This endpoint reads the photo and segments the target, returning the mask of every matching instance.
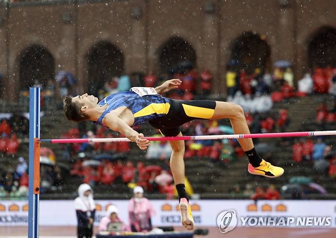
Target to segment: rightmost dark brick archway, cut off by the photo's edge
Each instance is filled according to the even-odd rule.
[[[335,28],[323,26],[308,37],[307,63],[310,69],[326,66],[336,67]]]

